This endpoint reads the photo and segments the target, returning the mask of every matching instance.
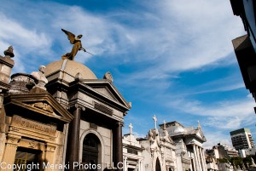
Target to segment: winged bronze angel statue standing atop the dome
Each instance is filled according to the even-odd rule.
[[[65,32],[68,40],[70,41],[70,43],[73,44],[73,48],[72,48],[71,52],[61,56],[62,60],[66,60],[66,59],[74,60],[74,57],[78,53],[79,50],[83,50],[84,52],[87,52],[85,50],[85,48],[82,47],[82,43],[80,40],[80,38],[83,37],[83,35],[80,34],[78,37],[76,37],[72,32],[66,31],[64,29],[61,29],[61,31]],[[87,52],[87,53],[90,54],[89,52]]]

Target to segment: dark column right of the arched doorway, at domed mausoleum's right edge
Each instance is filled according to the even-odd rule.
[[[119,167],[119,171],[123,170],[122,126],[123,123],[118,122],[113,128],[113,167]]]

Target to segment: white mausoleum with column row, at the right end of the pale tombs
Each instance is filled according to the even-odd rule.
[[[160,128],[163,128],[163,124]],[[207,171],[205,152],[202,144],[206,138],[198,122],[197,128],[185,128],[176,121],[166,123],[166,130],[176,143],[177,170]]]

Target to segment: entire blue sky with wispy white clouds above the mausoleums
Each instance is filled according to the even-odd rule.
[[[254,101],[244,88],[231,40],[245,34],[229,0],[0,0],[0,53],[15,48],[13,72],[37,71],[72,48],[61,28],[83,34],[79,52],[98,78],[132,102],[125,117],[137,136],[176,120],[197,126],[205,147],[230,145],[230,130],[255,131]],[[3,55],[3,54],[2,54]]]

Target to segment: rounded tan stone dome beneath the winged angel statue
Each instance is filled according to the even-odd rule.
[[[97,79],[96,75],[82,63],[74,60],[57,60],[46,66],[44,75],[48,81],[61,78],[67,83],[73,82],[79,73],[80,79]]]

